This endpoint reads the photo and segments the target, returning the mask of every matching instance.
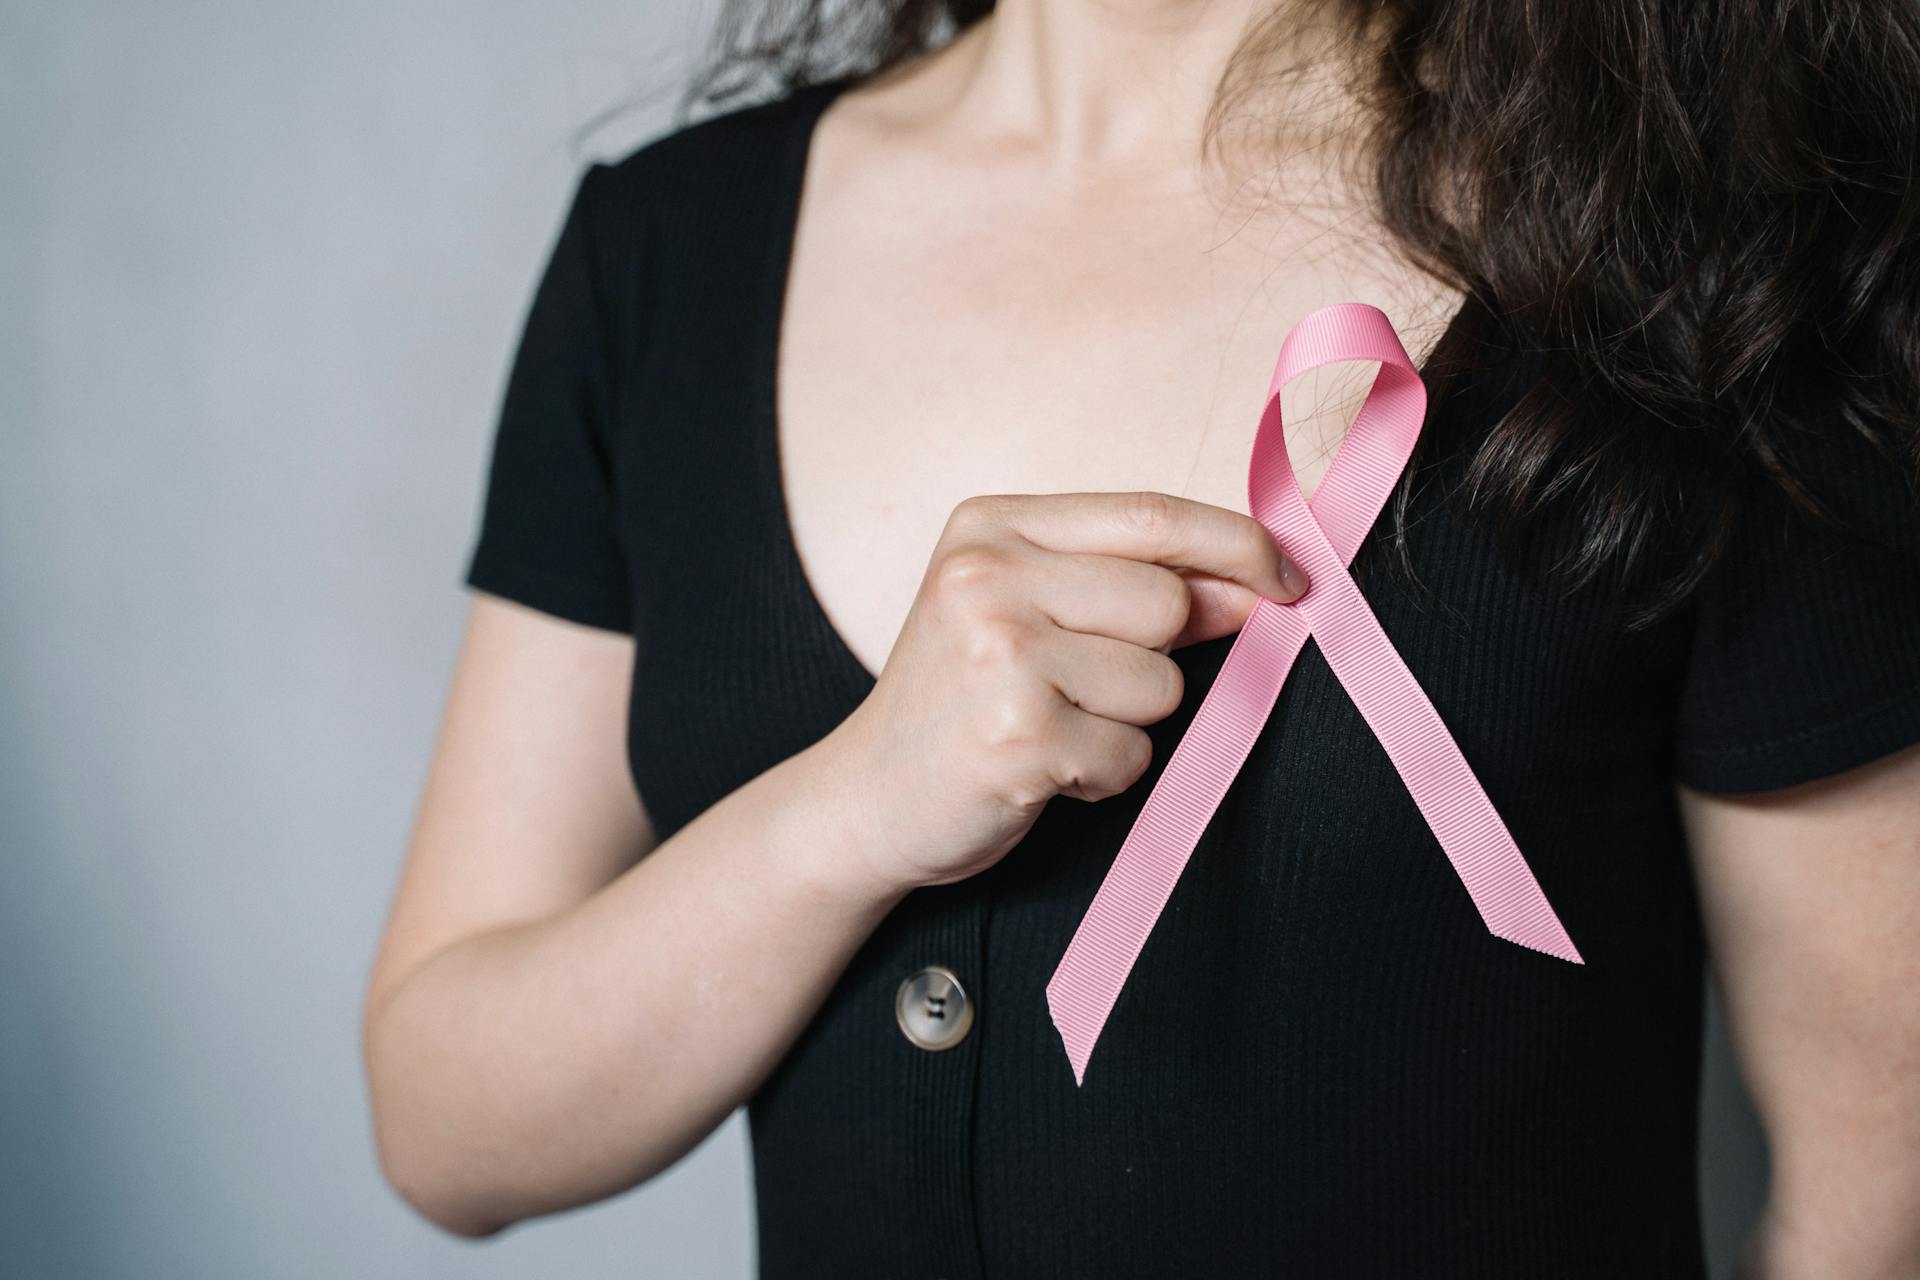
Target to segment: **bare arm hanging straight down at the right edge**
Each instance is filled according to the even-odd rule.
[[[1920,1276],[1920,748],[1680,789],[1715,981],[1772,1151],[1740,1280]]]

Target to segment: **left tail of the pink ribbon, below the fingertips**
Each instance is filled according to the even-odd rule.
[[[1306,637],[1292,610],[1271,601],[1254,606],[1046,981],[1046,1007],[1073,1065],[1073,1084],[1085,1082],[1087,1059],[1133,961],[1246,764]]]

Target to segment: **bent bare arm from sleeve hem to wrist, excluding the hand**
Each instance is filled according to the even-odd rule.
[[[835,877],[864,860],[808,752],[655,846],[630,666],[630,637],[474,599],[363,1023],[386,1176],[463,1236],[697,1146],[904,892]]]

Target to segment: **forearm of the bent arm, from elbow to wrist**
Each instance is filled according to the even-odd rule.
[[[849,781],[801,752],[576,908],[409,975],[367,1029],[396,1188],[488,1234],[636,1186],[712,1132],[904,894],[858,871]]]

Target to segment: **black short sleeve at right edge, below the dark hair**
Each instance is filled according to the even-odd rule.
[[[1693,604],[1674,773],[1770,791],[1920,743],[1920,493],[1895,459],[1811,403],[1789,466],[1843,533],[1755,476]]]

